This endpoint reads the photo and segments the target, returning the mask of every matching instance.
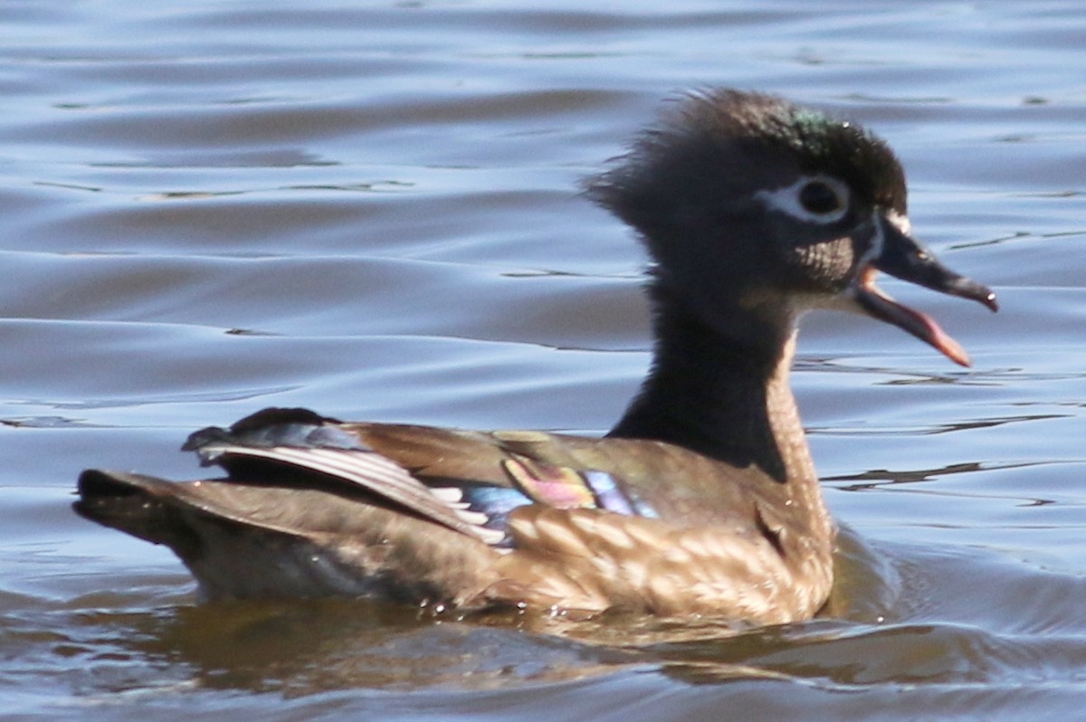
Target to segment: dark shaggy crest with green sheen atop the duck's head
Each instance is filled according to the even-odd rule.
[[[797,175],[839,178],[870,205],[906,214],[905,173],[861,126],[758,92],[708,90],[679,99],[589,195],[646,236],[667,216],[714,213],[716,202]],[[719,214],[719,211],[717,212]]]

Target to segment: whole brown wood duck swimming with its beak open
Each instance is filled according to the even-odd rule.
[[[268,408],[185,444],[225,478],[87,470],[76,511],[171,547],[204,598],[812,617],[835,527],[788,388],[799,317],[863,313],[968,365],[874,277],[995,295],[911,237],[882,140],[771,96],[685,97],[586,188],[653,261],[652,368],[605,438]]]

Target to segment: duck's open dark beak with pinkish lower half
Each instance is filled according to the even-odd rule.
[[[881,249],[859,269],[850,292],[856,303],[870,316],[893,324],[921,341],[934,346],[950,360],[969,366],[969,355],[961,345],[939,328],[930,316],[894,301],[875,286],[875,275],[882,270],[902,281],[924,286],[934,291],[972,299],[992,311],[999,308],[996,294],[986,286],[959,276],[929,253],[909,236],[906,221],[879,214],[875,217]]]

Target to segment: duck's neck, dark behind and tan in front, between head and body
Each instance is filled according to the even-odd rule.
[[[657,345],[648,378],[608,435],[655,439],[779,482],[817,481],[788,371],[795,325],[740,314],[721,328],[652,289]],[[731,331],[731,332],[730,332]]]

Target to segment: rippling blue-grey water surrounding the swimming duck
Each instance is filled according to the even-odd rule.
[[[1078,3],[11,0],[0,23],[7,719],[1082,718]],[[643,256],[577,185],[707,85],[875,128],[918,235],[1003,306],[885,283],[969,370],[807,324],[832,618],[555,637],[200,607],[167,552],[70,511],[80,468],[193,476],[190,430],[269,404],[606,429],[647,359]]]

